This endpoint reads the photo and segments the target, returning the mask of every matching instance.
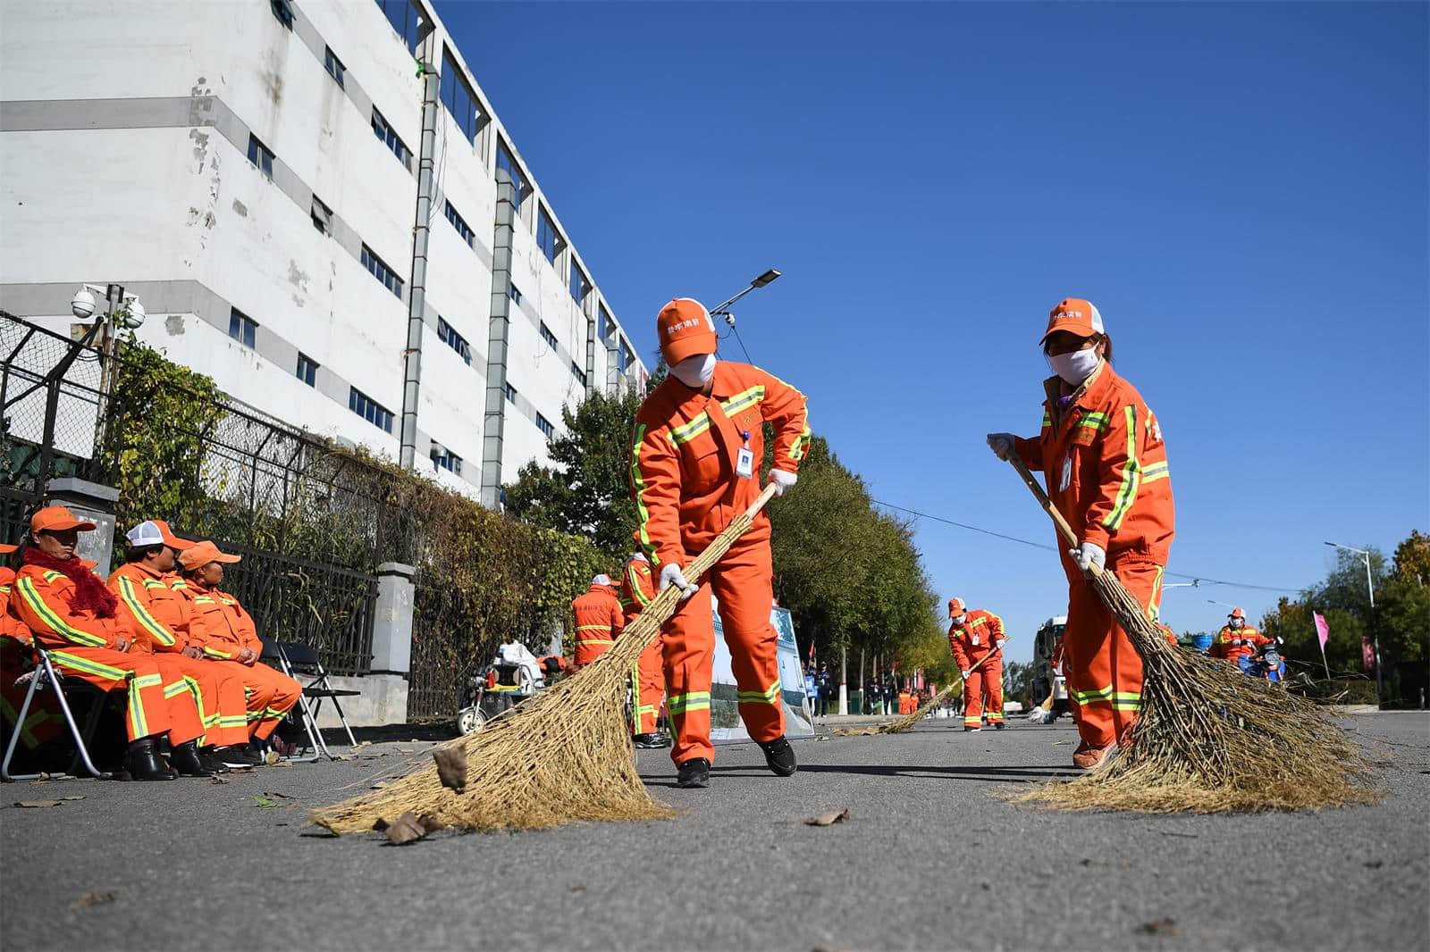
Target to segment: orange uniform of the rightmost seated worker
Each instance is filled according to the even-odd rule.
[[[199,622],[193,628],[203,632],[203,656],[209,659],[207,663],[230,673],[243,685],[246,735],[267,740],[297,703],[303,686],[283,672],[257,662],[263,653],[263,642],[253,616],[243,610],[236,598],[190,579],[176,577],[172,585]],[[237,660],[245,649],[253,652],[255,660]]]

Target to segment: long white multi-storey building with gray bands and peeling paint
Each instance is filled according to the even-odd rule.
[[[442,104],[419,470],[478,496],[485,462],[490,502],[493,473],[511,482],[546,460],[565,403],[644,383],[430,0],[0,10],[0,309],[69,330],[80,283],[120,283],[149,313],[140,336],[173,360],[279,419],[396,459],[423,60],[440,73]],[[519,189],[505,237],[499,167]],[[499,330],[505,349],[489,346]],[[500,440],[483,460],[488,382],[503,377]]]

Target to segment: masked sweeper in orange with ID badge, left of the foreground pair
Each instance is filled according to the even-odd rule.
[[[795,485],[809,445],[805,396],[778,377],[744,363],[716,360],[715,323],[705,307],[676,297],[656,317],[661,354],[671,375],[636,412],[631,439],[631,497],[639,520],[635,539],[659,566],[658,587],[684,593],[665,629],[666,712],[675,729],[671,758],[678,786],[708,786],[711,683],[719,599],[739,716],[778,776],[795,772],[785,739],[779,696],[778,635],[769,623],[774,566],[769,517],[754,526],[711,569],[696,589],[684,573],[731,520],[761,493],[764,425],[775,430],[769,482],[776,493]]]

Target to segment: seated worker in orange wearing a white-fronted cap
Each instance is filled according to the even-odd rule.
[[[109,590],[119,598],[119,616],[134,635],[132,650],[156,655],[162,669],[177,670],[189,690],[196,692],[204,726],[199,740],[204,746],[197,759],[210,772],[222,773],[230,766],[255,766],[257,760],[239,756],[249,742],[243,682],[204,660],[203,629],[173,589],[179,580],[174,556],[192,545],[163,520],[139,523],[124,533],[124,565],[110,573]]]

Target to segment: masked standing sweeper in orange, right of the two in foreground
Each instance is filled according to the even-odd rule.
[[[1075,547],[1058,550],[1068,579],[1068,689],[1080,709],[1072,763],[1093,769],[1137,720],[1143,662],[1088,572],[1094,565],[1114,572],[1157,620],[1174,535],[1171,480],[1157,415],[1113,370],[1097,307],[1060,302],[1040,344],[1054,370],[1044,382],[1042,430],[1030,439],[990,433],[988,446],[1000,459],[1017,453],[1042,470],[1048,496],[1078,536]]]

